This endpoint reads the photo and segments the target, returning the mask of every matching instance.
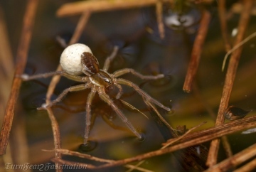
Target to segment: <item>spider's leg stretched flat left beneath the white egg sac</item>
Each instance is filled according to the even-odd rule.
[[[51,77],[53,75],[62,75],[63,77],[67,77],[70,80],[74,80],[74,81],[78,81],[78,82],[85,82],[84,77],[80,77],[77,75],[70,75],[67,72],[64,71],[55,71],[55,72],[47,72],[47,73],[42,73],[42,74],[38,74],[38,75],[27,75],[27,74],[23,74],[19,77],[21,77],[22,80],[34,80],[34,79],[38,79],[38,78],[46,78],[46,77]]]

